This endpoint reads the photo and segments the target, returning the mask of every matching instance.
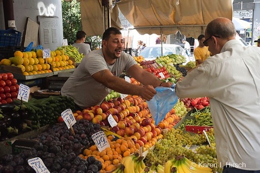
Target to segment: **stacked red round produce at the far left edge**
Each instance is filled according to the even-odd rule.
[[[17,99],[19,84],[12,73],[0,73],[0,104]]]

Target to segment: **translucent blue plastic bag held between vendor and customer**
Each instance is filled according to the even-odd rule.
[[[159,86],[155,88],[157,94],[152,100],[147,101],[148,108],[155,120],[155,125],[161,122],[165,115],[175,106],[178,101],[174,85],[172,88]]]

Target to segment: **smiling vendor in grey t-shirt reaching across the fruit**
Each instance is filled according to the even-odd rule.
[[[101,49],[88,53],[61,89],[62,96],[71,97],[82,109],[99,105],[112,91],[141,96],[151,100],[157,86],[171,87],[154,74],[142,69],[125,52],[122,33],[115,27],[105,30]],[[135,85],[120,78],[126,71],[143,85]]]

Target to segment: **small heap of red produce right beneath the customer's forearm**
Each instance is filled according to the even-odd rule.
[[[203,109],[206,106],[209,106],[209,98],[208,97],[201,97],[201,98],[185,98],[181,99],[184,103],[185,107],[187,108],[196,108],[198,110]]]

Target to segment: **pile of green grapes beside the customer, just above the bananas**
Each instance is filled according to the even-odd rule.
[[[172,169],[173,167],[178,166],[179,170],[182,170],[182,164],[186,164],[195,167],[198,164],[202,165],[212,165],[210,167],[212,170],[208,169],[211,172],[222,172],[222,168],[219,167],[216,158],[216,149],[215,149],[215,138],[213,128],[210,131],[206,132],[211,143],[211,146],[207,144],[207,140],[204,134],[191,134],[185,133],[180,128],[172,128],[163,139],[156,143],[154,150],[149,150],[147,156],[144,159],[145,164],[161,164],[165,167],[164,171],[168,171],[168,169]],[[196,145],[195,152],[190,149],[191,146]],[[189,159],[184,159],[184,157]],[[177,159],[176,159],[177,158]],[[178,161],[176,165],[174,160],[182,160]],[[171,160],[171,162],[168,162]],[[167,163],[168,162],[168,163]],[[192,164],[191,162],[195,162],[196,164]],[[167,165],[166,165],[167,163]],[[193,166],[194,165],[194,166]],[[183,165],[184,166],[184,165]],[[189,167],[190,167],[189,166]],[[203,166],[206,167],[206,166]],[[187,170],[186,167],[183,167],[184,170]],[[186,172],[186,171],[182,172]],[[176,170],[175,170],[176,171]],[[188,171],[188,170],[187,170]],[[170,171],[171,172],[171,171]],[[188,172],[204,172],[204,171],[196,171],[191,170]]]

